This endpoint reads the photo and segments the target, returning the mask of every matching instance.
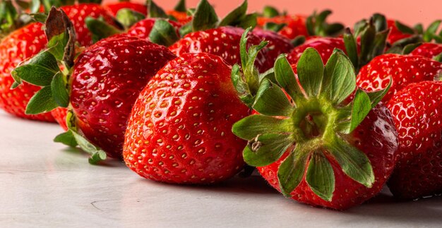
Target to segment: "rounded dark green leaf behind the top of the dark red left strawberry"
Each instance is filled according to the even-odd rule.
[[[167,20],[156,20],[149,34],[149,40],[155,44],[169,47],[179,40],[177,29]]]

